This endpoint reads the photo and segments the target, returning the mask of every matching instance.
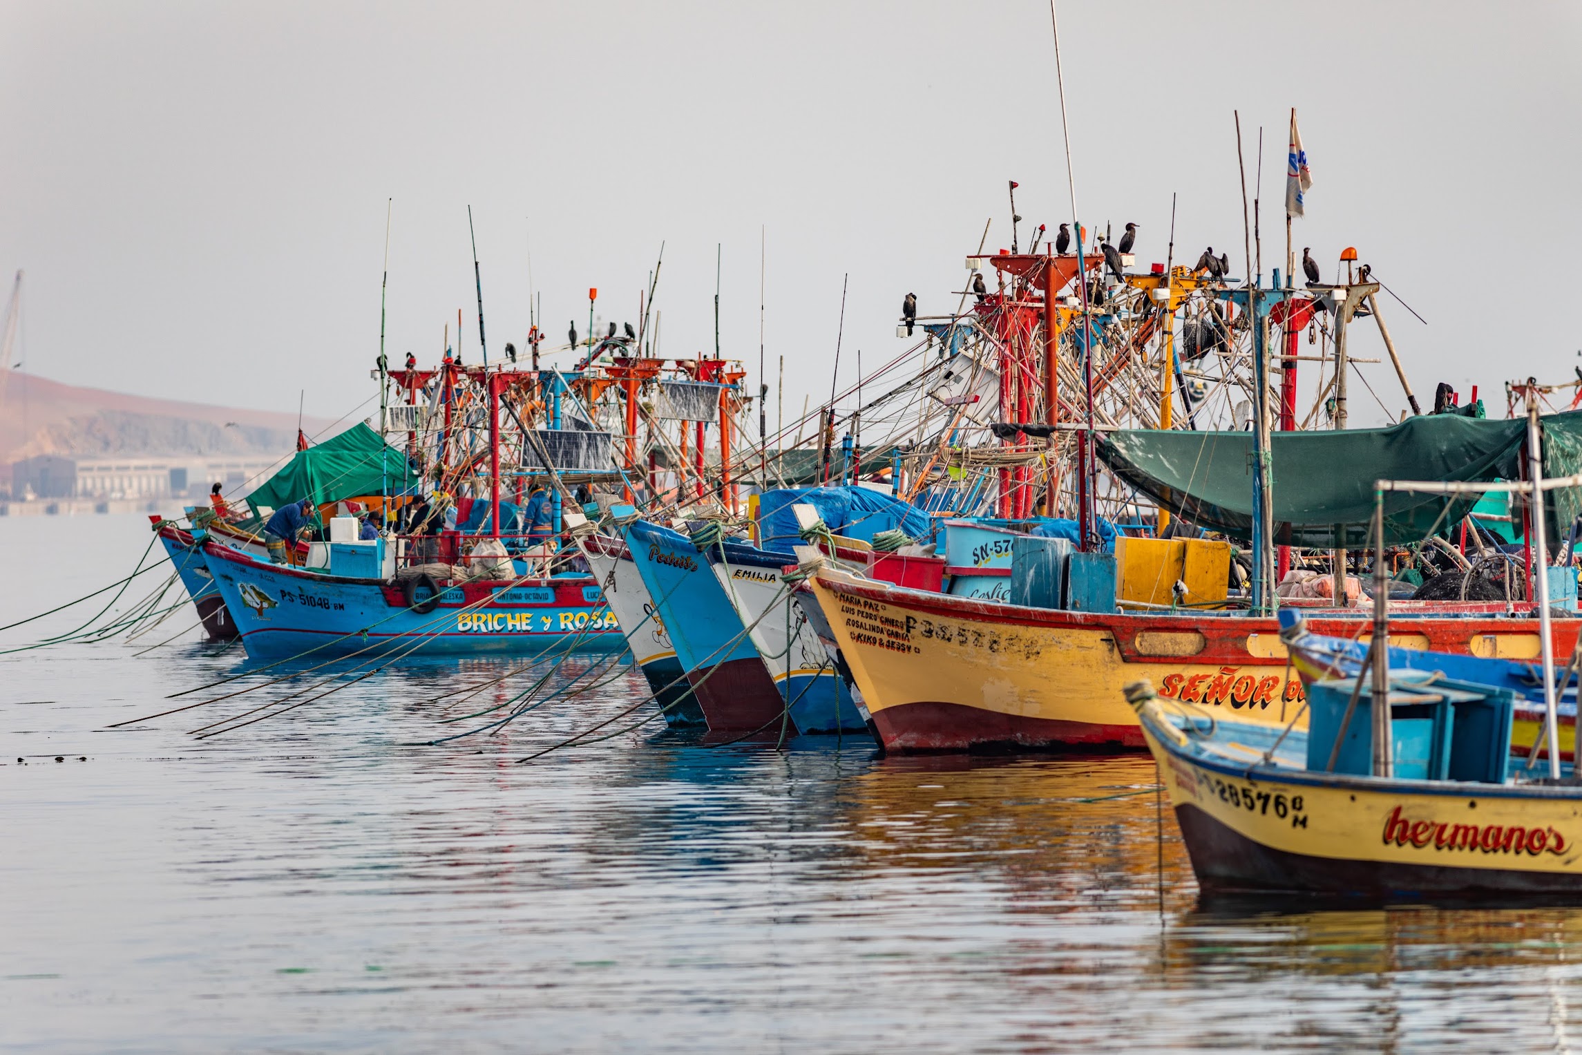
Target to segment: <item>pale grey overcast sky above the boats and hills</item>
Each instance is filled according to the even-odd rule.
[[[1313,163],[1296,245],[1345,245],[1419,395],[1574,378],[1576,3],[1096,3],[1058,8],[1077,207],[1163,261],[1242,274],[1232,111],[1264,130],[1266,267],[1283,253],[1286,120]],[[27,270],[24,369],[335,418],[388,348],[490,357],[544,326],[633,321],[664,242],[663,351],[758,361],[786,413],[903,350],[902,296],[954,308],[963,255],[1069,217],[1049,8],[990,3],[71,3],[0,0],[0,269]],[[1024,244],[1025,244],[1024,228]],[[1354,354],[1378,354],[1370,332]],[[1307,364],[1304,364],[1307,365]],[[1392,413],[1398,386],[1372,367]],[[774,395],[770,395],[774,399]],[[1503,413],[1503,397],[1490,400]],[[1498,410],[1493,403],[1498,403]],[[1383,413],[1365,392],[1354,424]],[[770,414],[770,421],[774,416]]]

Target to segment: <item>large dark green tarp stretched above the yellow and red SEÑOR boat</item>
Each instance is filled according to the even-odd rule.
[[[1582,413],[1555,414],[1542,424],[1544,475],[1582,471]],[[1410,418],[1391,429],[1277,432],[1270,444],[1275,541],[1361,549],[1373,520],[1375,481],[1517,479],[1525,437],[1525,419],[1459,414]],[[1098,457],[1171,512],[1231,538],[1250,538],[1250,432],[1114,432],[1099,444]],[[1550,492],[1546,503],[1550,539],[1560,535],[1554,527],[1557,519],[1565,530],[1582,511],[1582,495],[1576,490]],[[1422,541],[1436,522],[1440,530],[1457,524],[1476,500],[1476,495],[1386,493],[1386,539],[1392,546]]]

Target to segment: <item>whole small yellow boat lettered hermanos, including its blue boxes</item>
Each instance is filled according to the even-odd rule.
[[[1392,672],[1389,777],[1370,775],[1370,688],[1313,698],[1310,737],[1126,688],[1205,894],[1582,894],[1582,786],[1523,781],[1509,690]]]

